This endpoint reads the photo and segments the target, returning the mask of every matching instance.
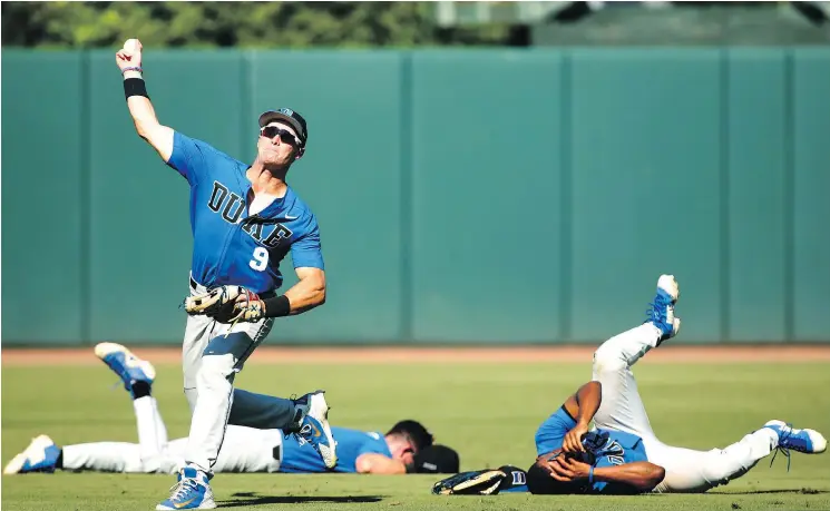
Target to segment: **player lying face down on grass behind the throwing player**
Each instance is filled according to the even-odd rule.
[[[53,472],[56,469],[125,473],[176,473],[185,463],[187,439],[167,440],[167,430],[152,395],[155,368],[126,347],[101,343],[95,348],[124,381],[133,397],[138,443],[95,442],[59,448],[47,435],[36,438],[4,473]],[[237,390],[236,392],[244,392]],[[232,412],[233,413],[233,412]],[[384,435],[332,428],[338,443],[334,472],[404,474],[458,472],[458,454],[434,445],[432,434],[416,421],[400,421]],[[307,442],[281,430],[230,425],[216,472],[330,472]]]

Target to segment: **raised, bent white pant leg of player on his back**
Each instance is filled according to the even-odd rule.
[[[645,323],[609,338],[594,353],[593,380],[603,385],[603,401],[594,415],[597,428],[654,436],[631,366],[657,345],[661,334]]]

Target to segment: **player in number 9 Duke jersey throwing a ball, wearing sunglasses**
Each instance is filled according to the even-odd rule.
[[[128,40],[116,53],[129,114],[138,135],[191,187],[193,262],[191,294],[228,305],[244,286],[256,317],[233,317],[227,307],[193,308],[184,336],[184,387],[192,410],[186,464],[169,499],[156,509],[213,509],[213,476],[228,423],[300,434],[326,468],[336,464],[335,444],[322,391],[283,400],[233,389],[234,376],[271,331],[274,317],[301,314],[325,301],[325,273],[318,220],[286,184],[292,163],[305,151],[305,119],[290,109],[260,117],[257,156],[243,164],[208,144],[162,125],[141,70],[141,45]],[[280,262],[291,253],[297,284],[284,294]],[[262,298],[262,302],[260,301]],[[192,305],[193,299],[188,305]]]

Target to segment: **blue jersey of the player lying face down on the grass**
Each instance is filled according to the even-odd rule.
[[[333,472],[357,472],[358,456],[365,453],[383,454],[392,458],[382,433],[332,428],[332,436],[338,443],[338,465]],[[283,442],[283,461],[280,472],[328,472],[323,460],[311,444],[293,439]]]

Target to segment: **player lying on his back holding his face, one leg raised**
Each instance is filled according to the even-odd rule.
[[[672,275],[657,281],[644,324],[606,341],[594,353],[593,380],[577,390],[536,432],[537,460],[525,474],[533,493],[705,492],[745,474],[781,450],[820,453],[827,440],[813,430],[770,421],[725,449],[693,451],[654,434],[632,366],[680,330],[680,296]],[[594,421],[594,429],[589,423]],[[439,481],[434,493],[496,493],[521,471],[476,471]],[[518,472],[517,472],[518,471]],[[514,472],[511,476],[509,472]]]

